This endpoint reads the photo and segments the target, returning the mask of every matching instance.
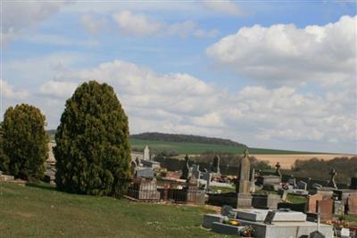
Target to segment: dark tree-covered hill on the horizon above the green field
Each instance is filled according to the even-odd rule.
[[[181,142],[181,143],[198,143],[198,144],[222,144],[230,145],[236,147],[247,146],[245,144],[240,144],[232,140],[222,139],[217,137],[207,137],[201,135],[182,135],[182,134],[166,134],[158,132],[146,132],[137,135],[130,135],[131,139],[140,140],[152,140],[152,141],[163,141],[163,142]]]

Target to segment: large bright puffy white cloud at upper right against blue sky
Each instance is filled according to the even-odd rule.
[[[343,16],[325,26],[293,24],[239,29],[206,53],[244,78],[268,84],[323,86],[350,84],[355,78],[357,17]]]

